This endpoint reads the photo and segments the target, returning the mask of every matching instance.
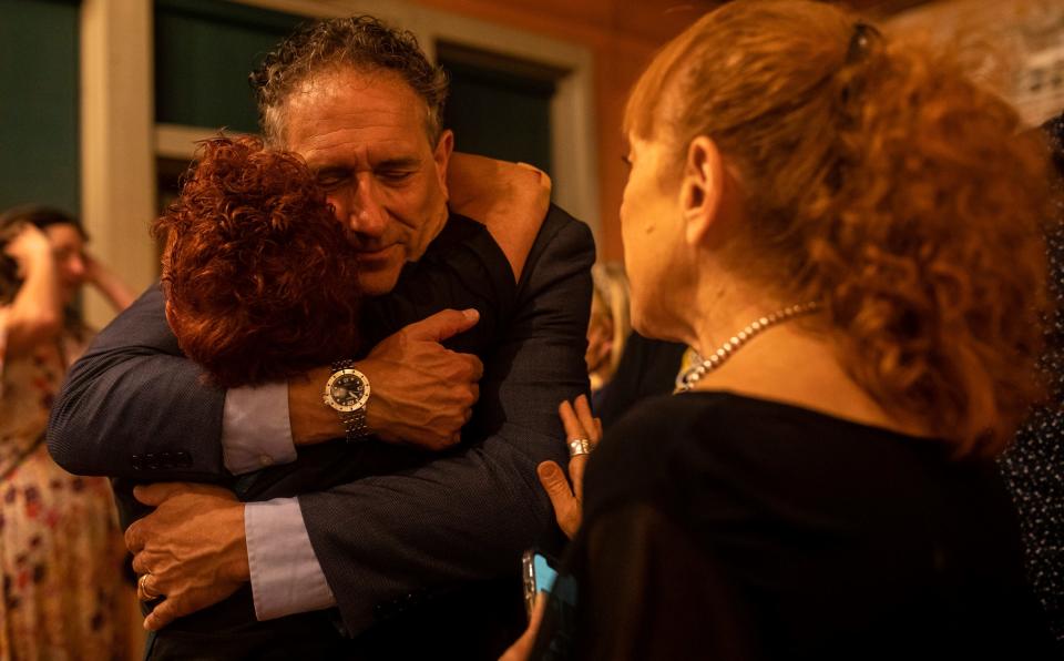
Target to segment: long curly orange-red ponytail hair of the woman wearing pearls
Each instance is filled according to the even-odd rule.
[[[861,39],[863,34],[864,39]],[[992,454],[1042,393],[1046,152],[948,55],[806,0],[737,0],[651,64],[625,131],[678,170],[698,135],[746,191],[725,258],[819,301],[852,378],[901,419]]]

